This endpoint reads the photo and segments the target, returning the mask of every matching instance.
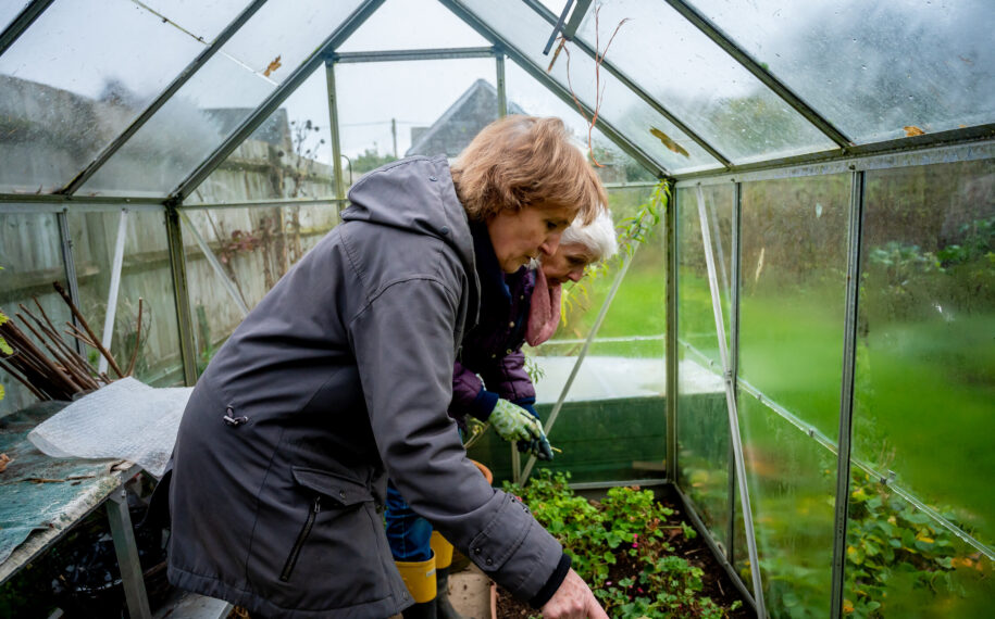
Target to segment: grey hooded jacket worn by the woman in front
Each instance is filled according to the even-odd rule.
[[[478,296],[446,160],[383,167],[349,199],[190,396],[173,455],[170,581],[264,616],[399,612],[411,601],[378,514],[389,475],[531,599],[562,571],[562,548],[487,484],[446,414]]]

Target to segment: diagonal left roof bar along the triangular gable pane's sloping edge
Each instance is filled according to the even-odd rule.
[[[279,108],[287,97],[322,64],[331,51],[343,45],[352,33],[359,28],[366,18],[376,11],[385,0],[366,0],[358,7],[351,15],[339,24],[325,41],[298,66],[287,79],[266,97],[248,118],[242,121],[235,131],[219,146],[214,152],[204,160],[190,175],[184,179],[170,194],[171,203],[181,203],[217,167],[241,142],[246,140],[270,115]]]

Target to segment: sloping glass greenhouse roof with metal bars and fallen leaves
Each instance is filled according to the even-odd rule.
[[[677,179],[995,135],[985,0],[431,4],[4,3],[0,195],[182,204],[315,71],[371,60],[507,55]],[[350,39],[405,10],[406,33]],[[71,146],[62,161],[26,162],[53,140]],[[156,174],[129,174],[135,162]]]

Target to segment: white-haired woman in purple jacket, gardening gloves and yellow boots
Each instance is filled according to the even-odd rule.
[[[530,426],[538,415],[535,387],[524,369],[522,344],[538,345],[556,332],[560,319],[560,289],[564,281],[579,281],[590,264],[618,252],[614,226],[607,209],[589,225],[575,220],[560,237],[551,255],[505,274],[486,251],[483,235],[475,237],[476,274],[481,281],[481,310],[476,326],[463,338],[452,371],[449,416],[462,429],[467,415],[489,422],[506,441],[515,441],[520,452],[552,459],[545,435],[534,438]],[[538,268],[535,268],[538,267]],[[435,580],[436,596],[405,611],[406,619],[459,615],[449,603],[449,557],[452,548],[432,525],[419,516],[393,484],[387,487],[387,540],[406,583],[412,589],[426,578]],[[435,573],[431,574],[434,561]]]

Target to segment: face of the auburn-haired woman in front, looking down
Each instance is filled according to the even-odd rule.
[[[531,258],[556,253],[560,235],[573,220],[573,209],[526,206],[519,212],[501,211],[487,220],[490,244],[505,273],[514,273]]]

